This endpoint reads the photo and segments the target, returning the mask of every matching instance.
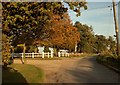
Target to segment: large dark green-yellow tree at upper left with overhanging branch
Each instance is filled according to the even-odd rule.
[[[86,6],[86,3],[83,5],[82,2],[66,3],[70,8],[79,10]],[[28,45],[34,40],[43,39],[47,35],[46,30],[52,14],[62,17],[67,12],[67,8],[61,2],[3,2],[2,5],[3,33],[10,37],[13,45]]]

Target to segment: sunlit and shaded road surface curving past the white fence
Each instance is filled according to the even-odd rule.
[[[28,60],[27,63],[44,70],[44,83],[120,83],[120,75],[97,63],[95,57]]]

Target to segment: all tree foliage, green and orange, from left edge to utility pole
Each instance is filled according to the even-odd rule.
[[[86,2],[67,2],[71,10],[80,16],[80,8],[87,9]],[[27,46],[26,52],[37,52],[36,47],[53,47],[55,52],[67,49],[73,52],[77,44],[80,53],[116,54],[116,42],[112,36],[95,35],[92,26],[71,23],[62,2],[4,2],[2,3],[3,62],[10,59],[10,47],[22,52],[18,44]],[[6,43],[7,42],[7,43]],[[8,63],[7,63],[8,64]],[[6,64],[6,65],[7,65]]]

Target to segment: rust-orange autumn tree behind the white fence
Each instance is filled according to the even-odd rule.
[[[54,48],[74,50],[75,44],[79,41],[79,32],[73,27],[67,13],[61,18],[54,15],[50,24],[49,41]]]

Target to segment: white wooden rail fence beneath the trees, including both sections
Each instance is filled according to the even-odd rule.
[[[12,53],[12,58],[17,58],[17,57],[22,57],[23,58],[23,53]],[[62,57],[62,56],[69,56],[69,53],[60,53],[58,52],[58,57]],[[42,54],[40,53],[25,53],[25,57],[26,58],[53,58],[53,53],[51,52],[42,52]]]

